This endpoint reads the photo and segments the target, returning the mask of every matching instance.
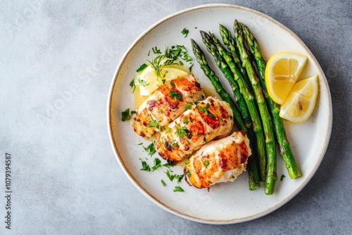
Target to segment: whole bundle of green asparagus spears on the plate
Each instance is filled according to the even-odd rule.
[[[237,127],[249,136],[254,153],[247,165],[249,189],[257,189],[260,186],[260,179],[265,182],[265,193],[270,195],[274,193],[277,181],[275,141],[279,144],[280,154],[291,179],[301,177],[301,172],[287,140],[282,118],[279,117],[279,104],[272,101],[268,95],[265,84],[266,62],[260,52],[258,41],[249,28],[237,20],[234,20],[233,30],[234,37],[226,27],[220,25],[220,36],[228,50],[211,32],[201,31],[201,37],[206,49],[229,82],[235,102],[208,65],[199,45],[193,39],[191,44],[201,69],[222,99],[229,102],[234,110]]]

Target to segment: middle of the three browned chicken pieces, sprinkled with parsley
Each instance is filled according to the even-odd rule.
[[[215,137],[229,134],[233,124],[229,103],[210,96],[171,122],[161,132],[156,149],[169,163],[177,163]]]

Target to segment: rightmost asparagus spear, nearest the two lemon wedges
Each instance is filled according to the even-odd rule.
[[[240,23],[240,25],[244,32],[244,38],[246,39],[246,43],[249,46],[249,50],[251,51],[254,57],[254,60],[256,61],[260,83],[262,84],[262,87],[263,87],[263,93],[264,93],[265,99],[268,103],[268,106],[270,107],[272,120],[275,126],[275,134],[277,137],[277,141],[279,143],[282,159],[284,160],[284,165],[287,168],[289,177],[291,177],[291,179],[296,179],[298,177],[301,177],[302,174],[298,169],[298,166],[296,165],[296,160],[294,159],[294,155],[292,154],[291,148],[289,146],[289,141],[287,140],[287,136],[284,130],[284,124],[282,122],[282,119],[279,117],[279,104],[272,101],[272,99],[268,94],[268,89],[265,84],[266,63],[261,54],[260,46],[256,38],[252,34],[252,32],[249,30],[249,28],[243,23]]]

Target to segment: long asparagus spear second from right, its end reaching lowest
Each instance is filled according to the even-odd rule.
[[[265,142],[267,149],[267,176],[265,178],[265,194],[274,193],[275,182],[277,180],[277,158],[276,158],[276,147],[275,147],[275,136],[272,131],[272,120],[266,106],[265,99],[263,96],[263,90],[260,87],[260,82],[254,72],[251,61],[249,60],[249,55],[244,46],[243,32],[238,21],[234,21],[234,37],[239,49],[239,54],[241,57],[242,64],[246,68],[247,74],[249,75],[249,80],[251,81],[254,95],[256,96],[256,101],[260,113],[261,120],[263,122],[263,129],[265,132]]]

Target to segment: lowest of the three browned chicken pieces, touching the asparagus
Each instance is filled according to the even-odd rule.
[[[220,182],[233,182],[246,170],[249,155],[251,148],[246,134],[234,132],[209,142],[192,155],[184,167],[184,177],[189,185],[199,189]]]

